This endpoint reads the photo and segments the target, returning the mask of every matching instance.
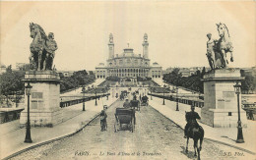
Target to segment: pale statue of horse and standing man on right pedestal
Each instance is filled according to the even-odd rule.
[[[213,40],[212,34],[207,34],[209,40],[207,41],[206,55],[212,70],[225,69],[228,67],[226,53],[230,53],[230,61],[233,62],[233,47],[230,40],[228,28],[222,23],[217,24],[217,27],[220,35],[219,40]]]

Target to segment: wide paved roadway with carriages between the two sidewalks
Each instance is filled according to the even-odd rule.
[[[99,118],[96,118],[81,133],[34,148],[13,159],[195,159],[192,140],[186,154],[183,131],[150,106],[136,112],[134,133],[114,133],[114,111],[122,103],[114,103],[107,110],[106,132],[100,132]],[[201,158],[243,158],[242,155],[236,156],[235,152],[241,153],[234,148],[205,140]]]

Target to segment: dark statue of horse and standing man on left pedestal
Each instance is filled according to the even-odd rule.
[[[57,43],[55,42],[52,32],[47,36],[42,27],[37,24],[30,24],[31,28],[31,56],[30,64],[31,70],[46,71],[52,70],[54,51],[57,50]]]

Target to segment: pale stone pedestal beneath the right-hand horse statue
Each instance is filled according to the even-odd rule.
[[[213,70],[204,76],[204,101],[201,122],[214,128],[235,128],[238,121],[237,94],[233,85],[241,81],[239,70]],[[247,127],[246,112],[241,109],[242,127]]]

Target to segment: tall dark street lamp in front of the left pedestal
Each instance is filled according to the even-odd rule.
[[[31,135],[31,120],[30,120],[30,95],[32,93],[32,85],[28,82],[28,85],[25,86],[26,94],[28,95],[28,122],[27,122],[27,130],[26,137],[24,142],[32,143],[32,135]]]

